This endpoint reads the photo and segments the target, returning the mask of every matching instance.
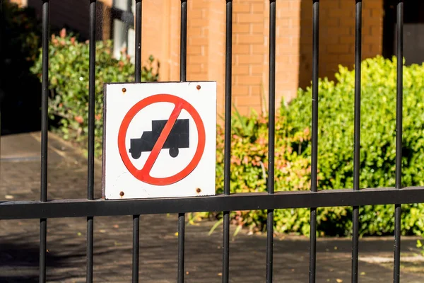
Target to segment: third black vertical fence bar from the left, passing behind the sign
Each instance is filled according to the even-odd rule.
[[[129,2],[131,4],[131,2]],[[130,5],[131,8],[131,5]],[[135,70],[134,81],[141,82],[141,0],[136,0],[136,31],[135,31]],[[139,282],[139,258],[140,258],[140,216],[133,215],[133,258],[132,258],[132,282]]]

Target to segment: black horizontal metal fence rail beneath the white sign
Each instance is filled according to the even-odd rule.
[[[0,202],[1,219],[36,219],[80,216],[114,216],[302,207],[348,207],[424,202],[424,187],[370,188],[355,191],[321,190],[240,193],[143,200],[53,200]]]

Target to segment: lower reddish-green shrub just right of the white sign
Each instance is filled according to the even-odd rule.
[[[236,112],[232,123],[231,139],[231,192],[266,192],[268,171],[268,123],[266,117],[252,115],[242,117]],[[285,118],[277,117],[275,190],[309,190],[310,161],[298,156],[292,143],[305,139],[307,133],[296,137],[286,137]],[[224,129],[218,125],[217,193],[223,192],[224,179]],[[192,221],[201,218],[220,219],[222,214],[191,214]],[[238,226],[247,226],[252,231],[263,231],[266,224],[266,211],[231,212],[231,222]],[[276,231],[309,233],[309,209],[280,209],[274,212]]]

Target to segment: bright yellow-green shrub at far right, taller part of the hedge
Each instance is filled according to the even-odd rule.
[[[362,64],[360,187],[393,187],[396,156],[396,59],[376,57]],[[319,189],[353,187],[353,119],[355,73],[340,67],[336,82],[319,81]],[[299,91],[281,115],[288,118],[290,134],[311,125],[311,88]],[[310,158],[310,139],[302,144],[301,156]],[[404,67],[404,133],[402,185],[424,185],[424,65]],[[321,212],[320,212],[321,211]],[[323,213],[324,211],[325,213]],[[338,217],[338,226],[348,234],[351,209],[338,208],[321,217]],[[343,215],[342,215],[343,214]],[[424,204],[403,206],[402,233],[424,231]],[[330,221],[329,223],[326,223]],[[336,224],[319,222],[321,230]],[[379,235],[394,231],[394,206],[360,207],[360,233]],[[328,232],[328,231],[327,231]]]

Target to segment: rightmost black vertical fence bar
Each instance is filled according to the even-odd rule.
[[[402,187],[402,114],[404,99],[404,1],[397,3],[397,75],[396,75],[396,189]],[[401,204],[394,206],[394,282],[401,271]]]

